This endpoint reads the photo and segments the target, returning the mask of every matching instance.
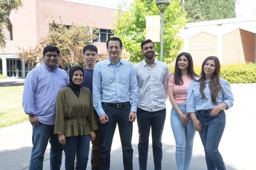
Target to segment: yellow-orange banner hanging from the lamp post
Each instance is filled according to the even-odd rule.
[[[160,42],[160,15],[146,16],[146,39]]]

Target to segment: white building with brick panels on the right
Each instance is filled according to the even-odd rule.
[[[181,29],[180,51],[191,54],[195,65],[217,56],[222,65],[253,62],[256,57],[256,16],[187,23]]]

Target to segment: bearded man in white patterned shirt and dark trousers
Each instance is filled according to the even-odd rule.
[[[141,50],[145,58],[134,65],[138,86],[139,103],[137,123],[139,129],[139,166],[147,169],[148,138],[152,131],[152,148],[155,170],[161,169],[162,131],[165,124],[165,101],[168,98],[168,66],[154,58],[155,45],[152,40],[142,41]]]

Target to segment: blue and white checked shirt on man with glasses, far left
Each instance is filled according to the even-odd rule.
[[[22,106],[26,114],[38,117],[39,122],[55,124],[56,97],[69,83],[66,71],[58,68],[52,72],[44,63],[27,74],[24,83]]]

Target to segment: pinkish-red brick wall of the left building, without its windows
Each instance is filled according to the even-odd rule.
[[[57,21],[60,16],[63,24],[66,25],[74,22],[109,30],[113,29],[112,25],[116,22],[113,16],[117,10],[110,8],[61,0],[22,0],[22,3],[23,6],[17,13],[12,12],[10,16],[13,24],[13,41],[7,42],[4,53],[16,53],[18,51],[16,46],[25,49],[35,47],[39,39],[47,35],[51,16],[54,16]],[[99,53],[103,49],[106,51],[102,48],[105,44],[98,46]]]

